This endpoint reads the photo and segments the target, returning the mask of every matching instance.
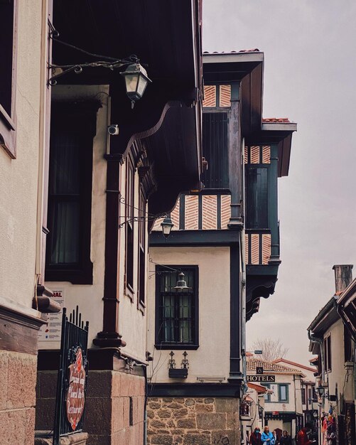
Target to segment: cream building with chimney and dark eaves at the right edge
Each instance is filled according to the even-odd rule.
[[[318,354],[320,417],[335,429],[337,444],[355,444],[355,312],[352,265],[335,270],[335,294],[320,309],[310,326],[309,350]],[[347,315],[345,315],[347,313]],[[321,432],[321,431],[320,431]],[[323,434],[327,432],[323,431]]]

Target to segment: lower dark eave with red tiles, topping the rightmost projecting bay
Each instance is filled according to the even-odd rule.
[[[281,176],[288,176],[292,134],[296,131],[297,124],[294,122],[262,122],[261,129],[247,136],[245,144],[277,144],[278,176],[281,178]]]

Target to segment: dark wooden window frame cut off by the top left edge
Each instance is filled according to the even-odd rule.
[[[9,82],[10,88],[10,101],[9,108],[7,111],[4,104],[0,103],[0,146],[6,151],[11,159],[16,159],[16,71],[17,71],[17,28],[18,28],[18,0],[4,1],[0,0],[0,6],[2,4],[8,3],[13,6],[13,31],[10,38],[10,42],[6,42],[5,45],[11,44],[12,51],[12,65],[11,67],[6,67],[6,73],[9,74],[11,70],[11,81]],[[4,20],[4,23],[9,23],[11,25],[11,20]],[[4,36],[6,36],[6,30],[4,31]],[[1,49],[1,47],[0,47]],[[8,48],[9,49],[9,48]],[[1,58],[1,54],[0,54]],[[1,79],[1,77],[0,77]]]

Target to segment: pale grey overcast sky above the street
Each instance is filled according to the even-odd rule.
[[[264,52],[263,116],[298,123],[279,179],[279,281],[247,346],[281,338],[308,364],[306,328],[335,291],[333,264],[356,264],[356,1],[203,0],[203,23],[203,50]]]

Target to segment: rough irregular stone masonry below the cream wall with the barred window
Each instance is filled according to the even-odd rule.
[[[151,397],[148,445],[239,445],[239,399]]]

